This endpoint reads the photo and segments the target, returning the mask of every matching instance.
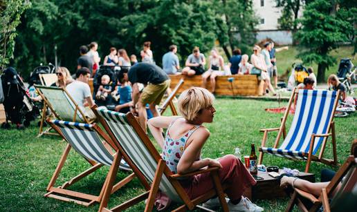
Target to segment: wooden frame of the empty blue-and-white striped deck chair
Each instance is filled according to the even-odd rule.
[[[273,146],[273,148],[278,148],[279,145],[279,141],[280,138],[283,137],[285,139],[286,137],[286,119],[289,115],[289,111],[291,109],[291,105],[295,99],[295,95],[297,95],[299,93],[298,89],[294,88],[293,93],[291,94],[291,97],[289,99],[289,104],[288,107],[285,110],[284,113],[284,117],[282,117],[282,123],[280,124],[279,128],[264,128],[261,129],[260,132],[264,133],[263,135],[263,139],[262,139],[262,146],[261,148],[259,148],[259,164],[262,164],[263,162],[263,155],[264,153],[262,152],[262,147],[265,147],[266,145],[266,141],[268,139],[268,133],[269,132],[273,132],[273,131],[278,131],[277,133],[277,137],[275,139],[275,144]],[[336,107],[338,104],[338,99],[340,99],[340,90],[338,90],[337,95],[336,95],[336,99],[335,102],[333,102],[333,109],[332,109],[332,114],[331,114],[331,118],[329,119],[329,124],[327,126],[327,134],[312,134],[311,135],[311,142],[310,142],[310,149],[309,149],[309,153],[308,154],[303,154],[304,157],[307,157],[307,162],[306,162],[306,166],[305,166],[305,171],[304,172],[309,172],[309,168],[311,165],[311,161],[316,161],[316,162],[322,162],[323,164],[327,164],[329,166],[337,166],[338,165],[338,161],[337,161],[337,151],[336,151],[336,133],[335,133],[335,123],[333,122],[333,117],[335,115],[336,112]],[[331,136],[332,138],[332,150],[333,150],[333,160],[327,159],[323,157],[324,154],[324,148],[326,146],[327,143],[327,138]],[[315,144],[315,138],[317,137],[323,137],[323,141],[322,141],[322,145],[320,148],[320,154],[317,155],[313,155],[313,146]],[[289,158],[288,158],[289,159]]]

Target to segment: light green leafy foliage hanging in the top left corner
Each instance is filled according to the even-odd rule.
[[[16,28],[21,14],[30,7],[28,1],[6,0],[0,3],[0,70],[5,68],[13,57]]]

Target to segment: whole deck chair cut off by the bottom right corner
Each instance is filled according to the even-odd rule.
[[[354,155],[349,155],[346,162],[340,166],[336,175],[333,176],[327,187],[322,189],[318,197],[307,191],[295,188],[286,211],[292,211],[295,204],[300,211],[320,211],[321,206],[327,212],[356,210],[356,163],[357,158]],[[302,199],[305,201],[302,201]],[[306,200],[309,200],[312,204],[306,206]],[[331,203],[329,200],[331,200]]]

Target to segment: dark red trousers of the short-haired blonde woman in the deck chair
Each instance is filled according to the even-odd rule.
[[[230,185],[224,191],[230,200],[238,200],[246,188],[257,183],[235,155],[226,155],[218,161],[223,166],[223,168],[219,169],[219,180],[221,184]],[[191,199],[214,189],[210,173],[195,175],[190,180],[181,181],[181,184]]]

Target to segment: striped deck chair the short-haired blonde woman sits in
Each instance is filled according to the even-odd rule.
[[[173,174],[132,113],[125,115],[105,109],[94,108],[93,110],[111,139],[117,141],[120,146],[122,146],[125,153],[129,156],[129,160],[145,175],[146,180],[151,183],[151,187],[148,188],[145,193],[110,210],[106,208],[106,201],[110,193],[104,193],[105,201],[103,200],[99,211],[122,211],[147,198],[145,211],[152,211],[158,189],[166,193],[173,202],[181,204],[175,211],[192,210],[195,206],[198,206],[198,204],[209,200],[215,195],[221,200],[223,211],[228,211],[228,205],[224,200],[223,193],[223,189],[226,189],[228,185],[222,186],[219,182],[217,167],[207,168],[185,175]],[[208,172],[212,174],[215,189],[212,189],[212,191],[205,193],[205,195],[201,197],[190,200],[190,197],[187,196],[177,179]]]

